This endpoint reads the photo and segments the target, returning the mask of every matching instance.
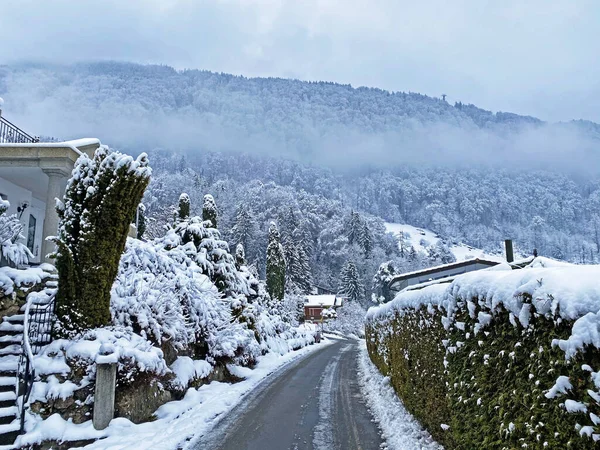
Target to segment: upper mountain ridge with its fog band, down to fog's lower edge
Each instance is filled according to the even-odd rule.
[[[510,167],[595,175],[600,125],[548,123],[439,98],[330,82],[133,63],[0,66],[27,131],[140,148],[245,152],[338,169]]]

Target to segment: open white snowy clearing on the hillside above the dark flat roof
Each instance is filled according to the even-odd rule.
[[[435,245],[440,240],[439,236],[433,231],[426,230],[424,228],[413,227],[412,225],[386,222],[385,228],[388,232],[399,237],[401,233],[404,233],[405,242],[408,245],[412,245],[417,252],[427,253],[427,247],[430,245]],[[450,245],[448,248],[454,254],[457,261],[464,261],[474,258],[488,259],[498,262],[504,261],[502,255],[491,255],[479,248],[474,248],[466,244]]]

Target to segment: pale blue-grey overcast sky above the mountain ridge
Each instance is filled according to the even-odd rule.
[[[600,122],[596,0],[0,0],[0,63],[124,60]]]

